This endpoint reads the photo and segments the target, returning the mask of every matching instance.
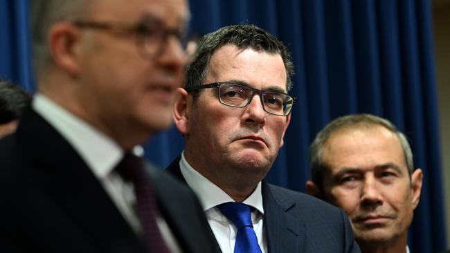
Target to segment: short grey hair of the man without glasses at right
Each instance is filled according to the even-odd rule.
[[[390,132],[397,135],[406,159],[406,166],[408,167],[408,174],[411,178],[411,174],[414,170],[413,152],[409,145],[406,136],[397,130],[397,127],[384,118],[380,118],[372,114],[354,114],[345,115],[336,120],[333,120],[325,126],[320,132],[317,133],[316,138],[309,146],[309,162],[311,163],[311,176],[312,181],[318,185],[319,189],[323,189],[323,176],[325,171],[329,169],[329,165],[326,165],[322,160],[323,146],[330,136],[336,131],[348,127],[375,127],[381,126],[388,129]]]

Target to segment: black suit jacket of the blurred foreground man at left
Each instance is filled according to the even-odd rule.
[[[195,194],[150,170],[181,248],[219,252]],[[32,110],[0,141],[0,201],[0,252],[147,252],[78,153]]]

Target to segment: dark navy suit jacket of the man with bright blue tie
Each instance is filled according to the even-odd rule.
[[[166,169],[183,182],[180,157]],[[269,253],[361,252],[345,213],[312,196],[262,181]]]

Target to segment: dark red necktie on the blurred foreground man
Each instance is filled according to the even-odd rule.
[[[132,182],[136,194],[136,214],[141,221],[144,241],[151,252],[170,253],[156,224],[159,209],[154,197],[152,185],[148,180],[142,158],[132,153],[125,153],[125,157],[117,165],[117,171],[124,180]]]

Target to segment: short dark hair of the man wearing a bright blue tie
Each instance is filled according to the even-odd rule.
[[[192,89],[199,86],[208,74],[210,59],[216,50],[225,45],[235,45],[237,48],[251,48],[281,56],[285,64],[287,91],[291,90],[291,76],[294,75],[294,64],[286,46],[269,32],[254,25],[224,26],[215,32],[210,32],[201,37],[192,60],[186,68],[186,79],[184,87]],[[195,97],[195,93],[194,93]]]

